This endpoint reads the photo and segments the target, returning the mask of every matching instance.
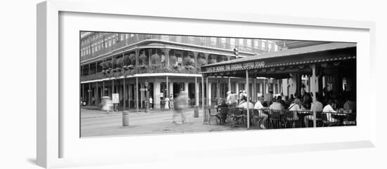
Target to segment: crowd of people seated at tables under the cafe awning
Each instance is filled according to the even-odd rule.
[[[234,91],[227,92],[227,98],[222,100],[217,107],[240,107],[244,109],[272,109],[281,112],[293,111],[293,118],[287,119],[289,121],[303,120],[305,126],[309,126],[309,121],[313,121],[313,115],[305,116],[304,119],[299,119],[298,111],[322,111],[326,113],[326,118],[330,122],[338,122],[331,116],[331,113],[355,113],[355,95],[351,91],[343,91],[339,95],[335,95],[332,90],[328,91],[326,88],[322,92],[316,93],[315,103],[312,101],[313,93],[307,93],[305,87],[300,89],[300,95],[287,95],[282,93],[275,97],[272,90],[266,95],[258,96],[258,101],[247,102],[246,90],[239,91],[239,94]],[[259,116],[263,119],[263,123],[260,124],[260,128],[265,128],[265,123],[268,119],[267,114],[263,114],[259,111]]]

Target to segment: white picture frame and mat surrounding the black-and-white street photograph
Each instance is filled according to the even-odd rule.
[[[115,16],[125,17],[144,17],[150,18],[148,20],[168,20],[168,22],[175,22],[179,25],[184,22],[186,25],[195,23],[214,24],[214,27],[221,25],[227,25],[231,23],[243,23],[255,27],[258,24],[265,27],[296,27],[297,29],[312,29],[312,27],[318,28],[319,32],[331,31],[334,29],[333,34],[341,32],[358,32],[357,38],[352,40],[359,44],[358,49],[358,69],[360,65],[362,72],[358,75],[364,77],[366,74],[372,73],[372,60],[374,60],[374,46],[375,46],[375,24],[374,22],[365,21],[348,21],[348,20],[329,20],[329,19],[317,19],[317,18],[296,18],[296,17],[284,17],[275,15],[250,15],[246,13],[211,13],[210,11],[200,10],[184,10],[184,13],[177,11],[167,10],[147,10],[144,11],[141,8],[132,8],[127,11],[129,2],[112,3],[111,1],[101,1],[88,6],[86,2],[82,1],[45,1],[37,5],[37,163],[45,168],[56,168],[63,166],[74,165],[98,165],[107,163],[137,163],[141,161],[153,161],[173,156],[175,152],[179,152],[182,157],[189,158],[194,156],[193,154],[201,154],[201,156],[210,158],[211,156],[233,156],[225,155],[229,151],[243,152],[242,154],[267,154],[269,152],[297,152],[297,151],[317,151],[327,149],[349,149],[349,148],[362,148],[362,147],[374,147],[376,142],[376,92],[371,90],[370,96],[372,98],[368,100],[369,109],[367,116],[360,114],[358,125],[350,128],[316,128],[316,129],[303,129],[303,130],[268,130],[268,131],[256,131],[248,130],[246,132],[229,132],[229,133],[192,133],[185,135],[151,135],[151,136],[131,136],[131,137],[101,137],[92,139],[80,139],[79,137],[71,137],[68,139],[68,135],[76,133],[74,128],[69,127],[63,122],[63,119],[69,119],[70,121],[78,121],[79,119],[71,119],[68,114],[63,114],[63,105],[61,105],[61,90],[62,83],[69,83],[64,81],[65,75],[63,75],[62,62],[67,62],[60,58],[63,54],[61,48],[65,47],[61,44],[61,15],[63,13],[75,13],[70,18],[76,18],[80,15],[107,15],[105,18],[109,22],[119,22],[118,20],[112,20]],[[109,8],[106,8],[109,6]],[[112,17],[113,16],[113,17]],[[66,16],[65,16],[66,17]],[[122,18],[121,17],[121,18]],[[85,18],[83,18],[85,19]],[[86,18],[87,19],[87,18]],[[66,19],[65,23],[70,19]],[[141,22],[148,22],[141,21]],[[63,24],[62,22],[62,24]],[[70,21],[71,22],[71,21]],[[217,26],[216,26],[217,25]],[[82,27],[81,25],[72,25],[74,27]],[[184,26],[184,25],[182,25]],[[236,25],[237,26],[237,25]],[[140,27],[141,28],[141,27]],[[82,30],[82,28],[79,28]],[[90,30],[90,29],[89,29]],[[103,28],[95,28],[96,31],[103,31]],[[139,28],[133,28],[132,31],[138,31]],[[91,30],[92,31],[92,30]],[[114,32],[127,32],[124,28],[110,29]],[[170,31],[170,30],[169,30]],[[280,31],[280,29],[279,29]],[[312,31],[312,30],[311,30]],[[201,33],[202,32],[202,33]],[[336,32],[336,33],[335,33]],[[63,33],[63,32],[62,32]],[[168,30],[160,30],[160,32],[152,32],[152,29],[145,29],[141,33],[171,33]],[[184,31],[177,32],[177,34]],[[231,32],[232,33],[232,32]],[[65,33],[67,34],[67,33]],[[210,34],[199,30],[197,32],[192,31],[192,34]],[[227,32],[219,32],[218,34],[227,35]],[[239,36],[249,36],[248,33],[241,34]],[[264,35],[265,36],[265,35]],[[334,35],[331,35],[334,36]],[[344,37],[341,40],[351,39]],[[66,36],[67,37],[67,36]],[[275,35],[267,35],[269,38],[275,38]],[[78,38],[78,37],[77,37]],[[278,37],[277,37],[278,38]],[[278,38],[280,39],[280,38]],[[301,38],[302,39],[302,38]],[[326,39],[329,40],[329,37]],[[331,39],[330,39],[331,40]],[[73,43],[79,43],[78,41]],[[66,47],[65,47],[66,48]],[[67,51],[67,50],[66,50]],[[362,54],[362,55],[360,55]],[[364,54],[364,55],[363,55]],[[76,57],[75,57],[76,58]],[[77,58],[79,59],[79,58]],[[358,61],[359,62],[359,61]],[[77,62],[78,63],[78,62]],[[62,71],[61,71],[62,70]],[[79,69],[77,69],[78,71]],[[365,74],[365,75],[364,75]],[[369,81],[373,81],[373,76]],[[360,78],[358,78],[360,79]],[[79,84],[78,79],[75,78],[74,83],[77,86]],[[71,83],[71,82],[70,82]],[[372,86],[371,83],[363,81],[360,86]],[[375,89],[375,88],[374,88]],[[364,92],[358,93],[358,95],[364,95]],[[78,105],[78,104],[77,104]],[[362,109],[362,107],[360,107]],[[70,134],[66,134],[70,133]],[[313,135],[319,133],[322,136],[329,136],[326,140],[318,141],[319,137],[315,140],[274,140],[267,139],[261,140],[259,146],[249,144],[250,141],[243,141],[246,144],[235,145],[234,147],[224,147],[224,144],[220,144],[217,147],[205,147],[205,142],[196,140],[197,137],[205,137],[208,140],[222,140],[226,139],[229,135],[234,137],[243,138],[255,138],[255,137],[267,137],[271,138],[272,135]],[[348,133],[348,138],[338,135],[339,133]],[[331,138],[331,137],[336,137]],[[157,144],[151,144],[149,140],[158,139],[158,144],[164,144],[164,147],[157,147]],[[80,140],[79,142],[74,140]],[[170,143],[173,140],[179,142],[185,142],[186,144],[197,143],[193,147],[186,147],[185,149],[170,149]],[[100,147],[100,149],[92,149],[93,147],[87,147],[88,144],[103,144],[103,143],[115,143],[115,147]],[[137,147],[130,147],[131,151],[128,153],[125,149],[120,150],[125,142],[135,142]],[[65,146],[63,146],[65,145]],[[146,149],[144,146],[147,145]],[[83,147],[84,149],[80,149]],[[128,148],[129,149],[129,148]],[[153,150],[151,150],[153,149]],[[70,155],[63,153],[65,151],[72,152]],[[79,156],[74,156],[74,152],[79,151]],[[91,152],[93,151],[93,152]],[[96,152],[101,151],[103,155]],[[208,152],[203,154],[203,152]],[[113,153],[114,152],[114,153]],[[134,156],[133,154],[136,154]],[[163,157],[160,157],[163,155]],[[59,158],[63,157],[63,158]],[[96,162],[98,161],[98,162]]]

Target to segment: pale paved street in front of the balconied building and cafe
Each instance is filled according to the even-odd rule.
[[[194,118],[194,109],[186,109],[188,123],[172,123],[172,111],[129,111],[129,126],[122,126],[122,111],[106,114],[106,111],[81,109],[82,137],[113,135],[158,135],[165,133],[198,133],[225,130],[246,130],[203,124],[203,115]]]

